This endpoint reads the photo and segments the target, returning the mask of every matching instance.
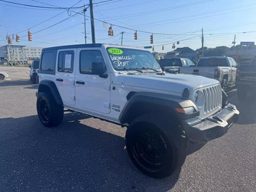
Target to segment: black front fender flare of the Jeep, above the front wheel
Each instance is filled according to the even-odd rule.
[[[178,119],[189,119],[199,116],[199,111],[194,102],[187,98],[178,96],[150,93],[130,92],[127,95],[127,102],[119,115],[121,124],[130,123],[133,118],[145,113],[170,113]],[[175,108],[186,108],[193,106],[196,109],[192,114],[180,114]]]

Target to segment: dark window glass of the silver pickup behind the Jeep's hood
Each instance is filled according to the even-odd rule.
[[[197,67],[228,67],[228,61],[226,58],[200,59]]]

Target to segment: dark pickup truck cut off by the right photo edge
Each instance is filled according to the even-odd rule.
[[[256,55],[249,65],[239,65],[236,71],[237,98],[242,101],[248,91],[256,90]]]

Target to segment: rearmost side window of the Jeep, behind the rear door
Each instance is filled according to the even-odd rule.
[[[40,73],[55,74],[56,52],[44,52],[42,54]]]

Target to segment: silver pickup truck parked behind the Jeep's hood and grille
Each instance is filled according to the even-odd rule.
[[[181,74],[201,75],[217,79],[226,91],[227,86],[235,85],[237,64],[230,57],[203,57],[193,68],[180,68]]]

